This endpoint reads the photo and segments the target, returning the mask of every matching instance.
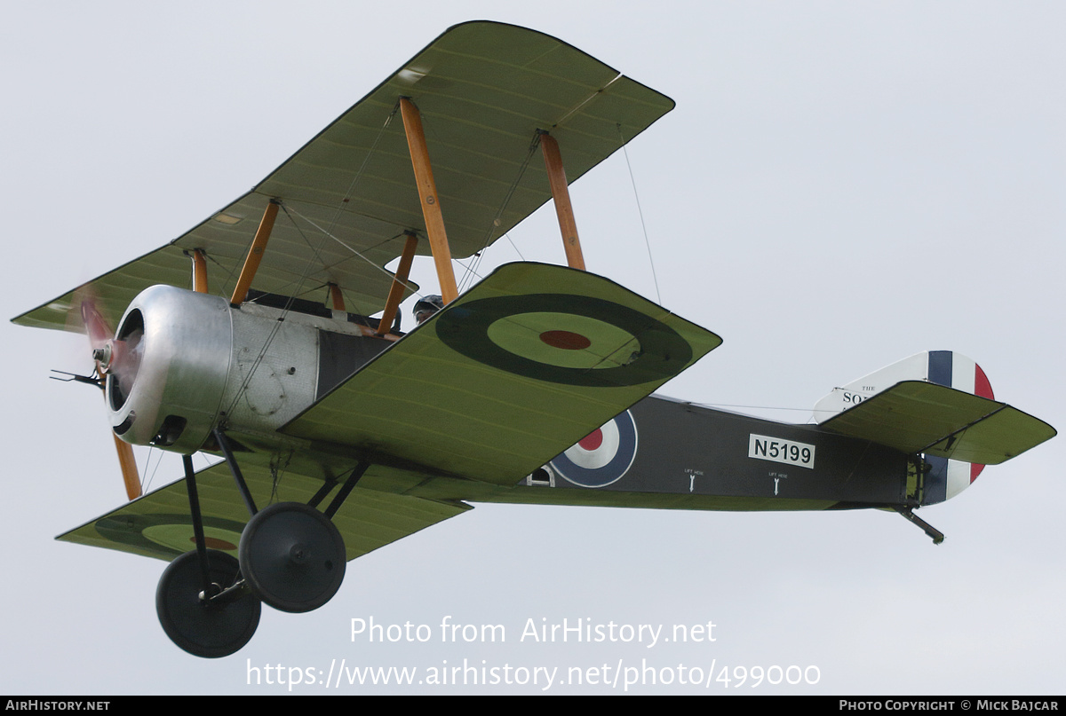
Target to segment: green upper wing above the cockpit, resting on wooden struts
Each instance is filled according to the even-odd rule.
[[[403,232],[425,235],[403,123],[394,116],[401,96],[422,113],[454,256],[480,250],[550,198],[544,162],[529,161],[538,129],[559,141],[572,181],[674,107],[549,35],[498,22],[453,27],[248,194],[90,281],[104,320],[116,325],[148,286],[187,286],[183,251],[194,248],[207,251],[212,292],[228,296],[271,198],[285,211],[253,288],[324,300],[321,288],[332,282],[350,311],[381,310],[391,282],[383,266],[400,255]],[[426,241],[419,250],[429,253]],[[67,325],[75,293],[15,322],[81,330]]]

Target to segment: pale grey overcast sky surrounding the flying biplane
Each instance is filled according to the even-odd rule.
[[[725,343],[662,393],[806,422],[834,386],[954,349],[985,369],[998,398],[1066,425],[1057,3],[9,2],[4,15],[9,318],[171,241],[446,28],[495,19],[554,35],[677,101],[629,146],[629,162],[661,303]],[[588,268],[656,299],[626,159],[571,194]],[[512,239],[527,259],[564,261],[551,213]],[[500,242],[486,261],[517,259]],[[416,280],[433,276],[420,261]],[[125,499],[99,395],[48,379],[51,368],[90,370],[84,340],[0,330],[12,396],[2,693],[286,693],[249,685],[248,667],[280,665],[288,679],[289,667],[342,658],[820,673],[813,686],[634,688],[646,694],[1062,691],[1061,438],[922,510],[947,534],[939,547],[879,511],[479,505],[351,563],[318,612],[264,607],[239,653],[190,656],[156,618],[163,563],[52,540]],[[139,455],[152,486],[179,476],[178,462],[157,469],[154,453],[145,467],[148,453]],[[506,641],[353,641],[351,620],[370,617],[426,624],[434,637],[445,617],[503,624]],[[519,640],[530,619],[664,631],[713,622],[715,640]]]

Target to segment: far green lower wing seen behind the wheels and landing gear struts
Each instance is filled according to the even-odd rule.
[[[388,471],[376,466],[372,470]],[[260,466],[242,465],[241,471],[260,509],[272,502],[306,503],[322,487],[320,478],[293,473],[282,474],[275,485],[271,470]],[[220,462],[200,470],[196,473],[196,487],[208,547],[237,556],[248,512],[229,468]],[[471,507],[461,502],[437,502],[356,487],[334,516],[334,524],[344,537],[348,558],[354,559],[468,509]],[[168,562],[196,549],[185,481],[149,492],[56,539]]]

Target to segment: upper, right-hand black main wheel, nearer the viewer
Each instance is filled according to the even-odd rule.
[[[328,517],[298,502],[256,514],[238,550],[241,574],[259,599],[282,612],[310,612],[344,581],[344,539]]]

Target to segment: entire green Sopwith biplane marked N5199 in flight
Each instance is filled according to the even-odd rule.
[[[974,361],[911,356],[811,424],[652,394],[722,340],[586,272],[567,185],[673,107],[554,37],[459,25],[236,201],[15,318],[87,335],[74,377],[103,393],[129,497],[59,538],[169,563],[160,622],[204,657],[471,502],[878,508],[941,541],[917,508],[1055,435]],[[567,265],[461,292],[452,256],[549,200]],[[442,307],[404,330],[417,255]],[[131,444],[184,475],[142,494]],[[196,471],[197,452],[222,459]]]

